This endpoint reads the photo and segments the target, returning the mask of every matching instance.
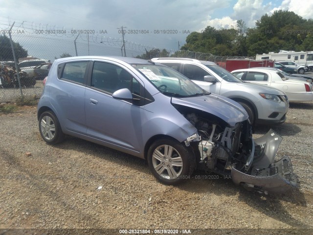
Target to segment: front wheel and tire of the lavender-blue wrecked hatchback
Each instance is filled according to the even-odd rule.
[[[155,141],[147,160],[153,175],[165,185],[177,185],[189,179],[196,167],[193,149],[171,139]]]

